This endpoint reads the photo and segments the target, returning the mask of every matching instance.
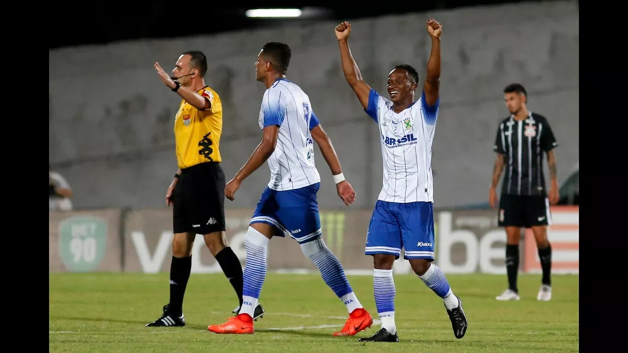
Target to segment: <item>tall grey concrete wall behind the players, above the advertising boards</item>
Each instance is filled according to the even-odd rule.
[[[521,82],[529,92],[529,108],[549,119],[560,143],[556,157],[562,182],[578,161],[577,2],[351,21],[352,53],[371,87],[384,91],[396,63],[410,63],[423,80],[430,53],[425,21],[430,17],[444,25],[441,109],[432,159],[436,206],[487,200],[497,124],[507,116],[502,90],[511,82]],[[49,158],[72,186],[75,209],[165,207],[166,188],[176,171],[173,121],[180,99],[161,83],[153,62],[169,71],[185,50],[205,52],[205,82],[222,98],[220,149],[229,180],[261,138],[257,114],[264,87],[254,80],[253,64],[268,41],[291,46],[288,78],[310,95],[358,194],[355,205],[372,207],[382,182],[377,129],[342,75],[335,24],[50,50]],[[320,206],[344,207],[318,148],[316,153]],[[268,179],[264,165],[226,206],[251,207]]]

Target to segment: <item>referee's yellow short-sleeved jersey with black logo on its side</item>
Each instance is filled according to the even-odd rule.
[[[212,107],[200,111],[181,99],[175,118],[176,161],[180,169],[207,161],[221,162],[222,102],[218,94],[205,86],[197,91],[207,97]]]

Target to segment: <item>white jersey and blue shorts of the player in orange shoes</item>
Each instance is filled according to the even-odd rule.
[[[310,98],[298,85],[278,79],[264,92],[259,128],[278,125],[279,137],[268,158],[271,180],[257,202],[251,224],[274,225],[276,236],[288,234],[301,244],[321,234],[320,175],[310,133],[318,124]]]

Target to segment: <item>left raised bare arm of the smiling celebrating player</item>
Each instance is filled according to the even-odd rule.
[[[334,33],[336,34],[338,45],[340,45],[340,61],[342,62],[342,72],[345,74],[345,79],[347,79],[347,82],[354,90],[362,107],[367,109],[369,106],[369,92],[371,92],[371,87],[362,80],[360,69],[357,67],[357,63],[355,63],[351,55],[351,50],[349,49],[349,42],[347,40],[349,40],[349,33],[351,33],[351,24],[347,21],[338,24]]]

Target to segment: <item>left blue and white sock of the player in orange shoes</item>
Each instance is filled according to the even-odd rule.
[[[266,254],[268,239],[264,234],[249,226],[244,238],[246,247],[246,265],[244,266],[244,287],[242,288],[241,314],[249,314],[253,317],[259,293],[266,279]]]

